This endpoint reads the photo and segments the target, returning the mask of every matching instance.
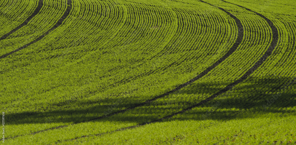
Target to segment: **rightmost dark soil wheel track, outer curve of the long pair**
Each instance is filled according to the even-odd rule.
[[[201,2],[204,2],[206,4],[209,4],[205,1],[202,1],[200,0]],[[221,0],[223,1],[223,0]],[[226,1],[225,1],[226,2]],[[228,2],[229,3],[229,2]],[[230,3],[232,4],[232,3]],[[213,6],[212,4],[210,4],[211,6]],[[236,5],[236,4],[235,4]],[[237,5],[238,6],[238,5]],[[214,6],[216,7],[216,6]],[[239,6],[239,7],[242,7],[242,6]],[[219,7],[218,7],[219,8]],[[247,9],[245,7],[242,7],[244,9]],[[225,12],[225,9],[223,8],[219,8],[221,9],[222,11]],[[247,9],[248,11],[251,11],[251,12],[254,12],[250,9]],[[228,14],[229,12],[227,12]],[[104,135],[104,134],[107,134],[107,133],[113,133],[113,132],[117,132],[117,131],[121,131],[121,130],[126,130],[126,129],[130,129],[130,128],[137,128],[137,127],[140,127],[140,126],[143,126],[143,125],[147,125],[147,124],[151,124],[151,123],[154,123],[154,122],[159,122],[159,121],[162,121],[163,119],[169,119],[175,115],[178,115],[178,114],[181,114],[181,113],[184,113],[186,111],[189,111],[191,109],[193,109],[194,107],[198,107],[198,106],[201,106],[202,104],[204,103],[207,103],[211,100],[213,100],[214,98],[216,98],[218,95],[221,95],[222,93],[225,93],[229,90],[231,90],[235,85],[241,83],[242,81],[244,81],[245,79],[247,79],[248,76],[250,76],[250,74],[252,74],[260,65],[262,65],[262,63],[266,60],[266,58],[268,58],[268,56],[271,55],[272,51],[274,50],[274,48],[276,47],[276,44],[279,40],[279,34],[278,34],[278,30],[276,29],[276,27],[274,26],[274,24],[271,22],[271,20],[269,20],[268,18],[266,18],[265,16],[257,13],[257,12],[254,12],[256,13],[256,15],[259,15],[260,17],[262,17],[264,20],[267,21],[268,25],[271,27],[271,30],[272,30],[272,41],[271,41],[271,44],[270,46],[268,47],[268,49],[266,50],[266,52],[264,53],[264,55],[255,63],[254,66],[252,66],[252,68],[250,68],[242,77],[240,77],[238,80],[236,80],[235,82],[231,83],[230,85],[226,86],[224,89],[222,89],[221,91],[219,91],[218,93],[215,93],[214,95],[211,95],[209,98],[206,98],[205,100],[201,101],[200,103],[197,103],[193,106],[190,106],[184,110],[181,110],[177,113],[174,113],[174,114],[171,114],[171,115],[168,115],[166,117],[163,117],[163,118],[160,118],[160,119],[157,119],[157,120],[154,120],[154,121],[151,121],[151,122],[146,122],[146,123],[143,123],[143,124],[140,124],[140,125],[134,125],[134,126],[129,126],[129,127],[126,127],[126,128],[120,128],[118,130],[114,130],[114,131],[110,131],[110,132],[106,132],[106,133],[99,133],[99,134],[96,134],[96,135],[89,135],[89,136],[101,136],[101,135]],[[237,21],[236,21],[237,22]],[[67,141],[72,141],[72,140],[75,140],[75,139],[78,139],[78,138],[84,138],[84,137],[88,137],[88,136],[81,136],[81,137],[77,137],[77,138],[73,138],[73,139],[70,139],[70,140],[67,140]]]

